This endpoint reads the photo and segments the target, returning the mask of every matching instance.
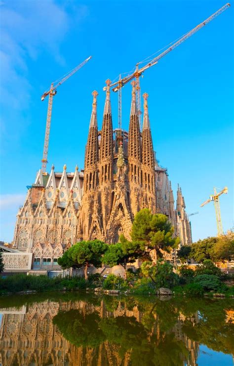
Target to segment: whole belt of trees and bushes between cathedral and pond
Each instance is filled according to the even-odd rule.
[[[135,215],[131,241],[123,235],[117,244],[106,244],[100,240],[81,241],[58,258],[62,269],[82,268],[83,277],[50,279],[46,276],[14,275],[0,278],[0,293],[88,289],[106,293],[234,296],[232,276],[222,274],[214,264],[234,257],[234,233],[182,246],[178,250],[181,262],[189,263],[193,258],[199,266],[195,271],[180,266],[176,273],[173,266],[162,259],[163,252],[170,253],[178,248],[180,239],[173,233],[167,216],[152,214],[148,208],[143,208]],[[136,272],[127,270],[127,263],[134,263],[137,259],[141,260],[141,267]],[[89,267],[100,268],[102,265],[121,265],[124,279],[113,274],[107,278],[99,274],[88,276]],[[0,272],[2,270],[0,255]]]

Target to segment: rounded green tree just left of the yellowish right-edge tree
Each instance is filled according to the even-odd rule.
[[[192,244],[191,257],[196,262],[202,263],[205,259],[213,258],[214,245],[218,242],[218,238],[211,237]]]

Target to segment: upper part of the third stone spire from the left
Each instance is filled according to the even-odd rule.
[[[132,81],[132,102],[128,133],[128,161],[141,162],[141,135],[136,105],[136,81]]]

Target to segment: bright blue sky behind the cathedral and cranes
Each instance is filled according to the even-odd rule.
[[[93,58],[58,88],[54,98],[48,167],[83,168],[92,91],[101,128],[105,80],[206,19],[224,1],[0,1],[0,240],[11,241],[27,185],[42,158],[47,100],[40,95],[89,55]],[[141,79],[149,94],[154,149],[168,168],[174,194],[180,183],[193,239],[216,235],[213,204],[199,205],[213,187],[224,230],[233,221],[234,9],[231,6]],[[122,90],[122,126],[128,128],[131,86]],[[117,94],[112,94],[114,127]]]

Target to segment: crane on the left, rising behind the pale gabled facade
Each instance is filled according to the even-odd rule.
[[[48,155],[48,146],[49,146],[49,131],[50,131],[50,122],[51,122],[51,114],[52,114],[52,104],[53,104],[53,97],[57,93],[57,87],[61,84],[63,84],[66,80],[68,80],[72,75],[74,75],[82,66],[84,66],[89,60],[92,58],[92,56],[89,56],[81,62],[75,69],[73,69],[70,73],[62,77],[61,79],[57,81],[53,81],[50,85],[50,88],[46,90],[41,95],[41,100],[43,101],[47,95],[49,95],[49,101],[48,101],[48,110],[47,110],[47,118],[46,118],[46,127],[45,127],[45,139],[44,139],[44,148],[43,148],[43,157],[41,159],[41,171],[42,174],[46,174],[46,164],[47,162],[47,155]],[[55,85],[54,85],[55,84]]]

